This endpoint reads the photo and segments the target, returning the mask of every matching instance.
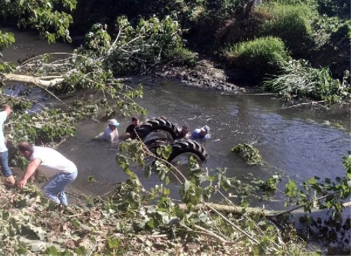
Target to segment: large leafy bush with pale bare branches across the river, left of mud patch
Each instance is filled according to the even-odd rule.
[[[185,48],[178,21],[169,16],[140,18],[135,26],[120,16],[116,27],[117,33],[110,36],[107,26],[95,24],[77,52],[106,55],[105,68],[117,76],[145,72],[170,61],[185,65],[196,62],[196,55]]]

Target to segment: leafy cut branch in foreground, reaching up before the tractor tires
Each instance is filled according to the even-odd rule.
[[[120,147],[120,154],[117,156],[117,162],[122,168],[126,168],[126,159],[128,159],[128,166],[130,166],[130,160],[134,159],[135,162],[140,161],[140,150],[143,148],[142,142],[131,141],[130,147],[128,142],[125,142]],[[135,146],[139,144],[139,146]],[[122,156],[127,152],[127,156]],[[161,153],[161,152],[160,152]],[[133,158],[131,155],[138,155],[138,158]],[[150,157],[151,154],[144,154],[144,157]],[[143,205],[142,201],[148,203],[155,202],[155,205],[147,206],[147,211],[143,211],[143,218],[145,218],[144,223],[146,223],[146,230],[150,229],[150,225],[153,228],[165,229],[164,224],[168,224],[168,232],[171,232],[173,235],[179,234],[181,228],[192,233],[194,227],[201,232],[205,232],[207,236],[216,237],[218,241],[223,243],[238,243],[237,239],[244,235],[244,238],[241,238],[241,242],[246,241],[253,248],[260,248],[263,251],[267,252],[277,252],[282,250],[282,244],[279,245],[279,241],[275,241],[272,238],[279,237],[279,233],[276,233],[275,228],[270,228],[270,225],[265,222],[264,219],[258,216],[258,219],[261,220],[260,225],[265,226],[265,230],[261,229],[261,226],[258,225],[252,218],[246,216],[245,210],[242,212],[243,215],[239,216],[239,219],[234,218],[232,215],[225,216],[213,208],[211,204],[206,203],[205,198],[208,200],[212,194],[219,194],[223,196],[224,199],[234,207],[235,205],[224,196],[224,191],[229,191],[230,189],[237,188],[237,185],[240,184],[240,181],[235,178],[225,177],[225,169],[218,169],[217,173],[210,175],[207,169],[203,169],[200,165],[192,158],[190,158],[190,167],[186,174],[179,173],[179,170],[170,166],[169,163],[162,159],[158,158],[153,166],[150,168],[145,167],[148,170],[148,174],[151,175],[151,172],[157,174],[161,181],[165,181],[166,185],[170,182],[168,175],[175,175],[182,177],[179,186],[179,198],[180,201],[186,204],[186,210],[181,209],[179,204],[175,204],[174,200],[170,198],[169,188],[165,188],[163,184],[156,185],[147,196],[140,197],[138,196],[137,203],[132,203],[130,205]],[[129,173],[128,169],[128,173]],[[129,173],[130,178],[135,179],[133,173]],[[185,178],[186,177],[186,178]],[[261,183],[261,189],[271,189],[271,181],[266,183]],[[252,186],[251,186],[252,187]],[[249,187],[246,187],[246,190],[250,190]],[[116,193],[121,194],[121,193]],[[146,193],[147,194],[147,193]],[[122,199],[120,200],[122,201]],[[198,208],[198,205],[203,205],[203,208]],[[145,206],[143,206],[145,207]],[[150,210],[152,209],[152,210]],[[155,211],[157,214],[155,215]],[[160,212],[158,212],[160,211]],[[140,212],[140,210],[138,211]],[[152,214],[150,214],[152,213]],[[147,218],[145,217],[145,215]],[[157,216],[157,217],[156,217]],[[156,217],[156,219],[155,219]],[[241,221],[240,221],[241,218]],[[242,221],[242,220],[245,221]],[[144,226],[144,223],[142,226]],[[172,223],[172,226],[170,227]],[[139,225],[140,227],[140,225]],[[182,230],[183,232],[185,230]],[[204,231],[205,230],[205,231]],[[273,233],[272,233],[273,232]],[[239,242],[237,245],[241,247],[242,244]],[[268,244],[274,244],[273,248],[269,248]]]

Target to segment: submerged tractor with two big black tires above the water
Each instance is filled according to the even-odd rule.
[[[171,163],[188,161],[190,156],[201,163],[208,157],[206,149],[199,142],[183,139],[177,126],[162,117],[141,123],[135,128],[132,139],[140,139],[153,153],[157,148],[172,146],[172,152],[167,159]]]

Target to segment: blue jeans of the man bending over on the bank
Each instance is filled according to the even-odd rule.
[[[76,177],[78,172],[64,173],[61,172],[52,177],[48,183],[42,187],[42,192],[50,200],[58,204],[68,205],[65,194],[65,187],[70,184]]]

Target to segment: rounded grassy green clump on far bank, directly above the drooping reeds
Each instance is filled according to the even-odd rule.
[[[226,51],[225,57],[231,65],[250,72],[255,80],[266,74],[276,74],[290,59],[283,41],[276,37],[263,37],[236,44]]]

